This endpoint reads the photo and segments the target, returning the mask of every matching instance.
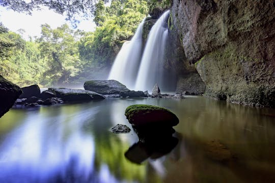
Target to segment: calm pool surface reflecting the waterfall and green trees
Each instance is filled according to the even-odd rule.
[[[132,104],[172,110],[177,142],[141,144],[133,130],[109,132],[116,124],[131,128],[124,111]],[[11,109],[0,118],[0,182],[270,182],[274,114],[202,97]],[[213,140],[234,158],[211,158],[220,156],[219,145],[208,156]]]

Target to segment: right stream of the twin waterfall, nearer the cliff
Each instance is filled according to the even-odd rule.
[[[168,38],[168,16],[169,11],[164,12],[149,33],[135,82],[135,90],[150,92],[155,83],[158,83],[160,88],[164,85],[163,63]]]

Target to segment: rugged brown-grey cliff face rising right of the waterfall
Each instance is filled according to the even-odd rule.
[[[206,96],[275,107],[275,1],[173,0],[171,22]]]

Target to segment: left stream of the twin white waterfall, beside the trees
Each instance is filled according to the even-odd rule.
[[[126,41],[112,66],[108,79],[115,79],[133,89],[142,54],[142,28],[145,18],[130,41]]]

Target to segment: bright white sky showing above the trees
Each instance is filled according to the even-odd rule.
[[[4,26],[8,27],[10,31],[18,33],[18,29],[22,28],[25,33],[22,37],[25,40],[29,40],[31,37],[39,37],[41,33],[41,24],[49,24],[51,28],[57,28],[64,23],[70,25],[69,21],[65,20],[65,16],[55,13],[52,10],[44,7],[41,11],[33,11],[32,15],[26,15],[24,13],[14,12],[13,10],[7,10],[0,6],[0,22]],[[94,31],[95,23],[91,20],[81,20],[76,29],[82,31]],[[72,27],[72,26],[71,26]]]

